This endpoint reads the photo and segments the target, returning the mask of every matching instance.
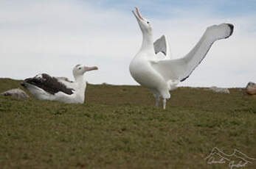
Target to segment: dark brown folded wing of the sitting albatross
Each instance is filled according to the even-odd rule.
[[[58,92],[63,92],[68,95],[71,95],[74,89],[67,87],[62,82],[59,82],[55,77],[49,76],[46,73],[38,74],[37,76],[29,79],[25,79],[25,82],[33,84],[48,93],[54,95]]]

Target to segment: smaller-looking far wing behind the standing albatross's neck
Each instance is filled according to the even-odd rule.
[[[170,58],[170,47],[165,35],[162,35],[162,37],[153,43],[153,48],[155,49],[156,54],[162,52],[162,54],[165,54],[166,57]]]

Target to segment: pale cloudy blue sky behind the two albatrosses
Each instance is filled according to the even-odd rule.
[[[78,63],[97,65],[88,82],[136,84],[128,65],[142,42],[131,10],[140,8],[153,37],[169,37],[173,57],[182,57],[207,26],[235,25],[232,37],[216,42],[182,86],[245,87],[256,82],[256,1],[1,0],[0,77],[36,73],[67,76]]]

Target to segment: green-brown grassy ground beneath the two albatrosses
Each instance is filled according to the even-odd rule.
[[[0,79],[0,93],[20,83]],[[135,86],[90,84],[85,104],[0,96],[0,166],[229,168],[207,164],[212,148],[256,158],[256,98],[230,92],[180,87],[166,110]]]

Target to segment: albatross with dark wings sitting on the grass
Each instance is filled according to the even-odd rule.
[[[83,104],[86,91],[86,71],[97,70],[96,66],[76,65],[73,68],[75,82],[66,77],[53,77],[46,73],[25,79],[21,85],[39,100],[60,101],[68,104]]]

